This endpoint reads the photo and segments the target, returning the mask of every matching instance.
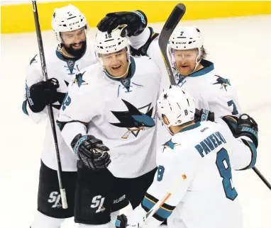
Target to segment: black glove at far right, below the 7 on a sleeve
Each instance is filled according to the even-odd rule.
[[[249,137],[255,144],[255,147],[258,147],[258,124],[248,114],[242,114],[239,118],[226,115],[222,119],[227,123],[234,137]]]

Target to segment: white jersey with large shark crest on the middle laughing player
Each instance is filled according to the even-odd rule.
[[[160,76],[149,57],[131,57],[125,79],[112,78],[100,64],[82,69],[57,119],[65,142],[70,146],[79,133],[101,139],[110,149],[108,169],[116,177],[136,178],[155,169]]]

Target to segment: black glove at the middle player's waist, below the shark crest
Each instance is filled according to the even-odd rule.
[[[106,169],[111,163],[110,155],[107,153],[109,148],[93,135],[78,134],[72,140],[71,146],[74,154],[77,154],[78,159],[89,169]]]

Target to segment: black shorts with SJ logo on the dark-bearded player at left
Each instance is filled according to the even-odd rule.
[[[45,166],[41,161],[38,185],[38,211],[49,217],[68,218],[74,215],[74,193],[77,172],[62,171],[62,185],[66,190],[68,208],[63,209],[57,171]]]

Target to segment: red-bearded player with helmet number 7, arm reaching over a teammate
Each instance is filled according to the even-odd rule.
[[[155,60],[162,72],[163,89],[168,89],[170,81],[160,54],[158,34],[147,28],[147,17],[142,11],[108,13],[97,28],[110,31],[118,25],[126,24],[123,35],[128,35],[135,55],[148,55]],[[195,98],[196,108],[205,108],[216,116],[238,115],[240,107],[236,89],[227,76],[218,74],[214,64],[206,60],[206,50],[201,33],[194,26],[180,26],[168,40],[168,55],[175,81]]]

